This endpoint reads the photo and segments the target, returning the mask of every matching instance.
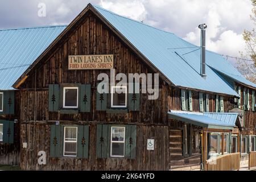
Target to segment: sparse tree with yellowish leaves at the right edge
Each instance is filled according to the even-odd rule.
[[[251,20],[256,26],[256,0],[251,0],[252,14]],[[240,52],[242,59],[237,60],[237,68],[243,76],[256,83],[256,30],[244,30],[243,40],[245,40],[245,52]],[[250,59],[250,60],[248,60]]]

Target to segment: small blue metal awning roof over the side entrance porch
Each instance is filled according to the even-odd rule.
[[[236,127],[238,113],[168,112],[168,117],[207,129],[232,130]]]

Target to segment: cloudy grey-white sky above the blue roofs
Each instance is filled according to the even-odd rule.
[[[253,28],[250,0],[0,0],[0,28],[68,24],[88,4],[100,5],[199,45],[207,23],[207,49],[240,56],[242,32]],[[38,16],[46,5],[46,16]]]

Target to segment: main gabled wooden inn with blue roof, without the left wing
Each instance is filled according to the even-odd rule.
[[[198,47],[90,4],[43,50],[13,83],[22,169],[210,169],[255,151],[256,85],[217,53],[202,75]],[[158,73],[159,97],[148,79],[101,93],[113,72]]]

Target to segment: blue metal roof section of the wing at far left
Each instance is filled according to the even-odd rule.
[[[0,90],[12,85],[66,26],[0,30]]]

